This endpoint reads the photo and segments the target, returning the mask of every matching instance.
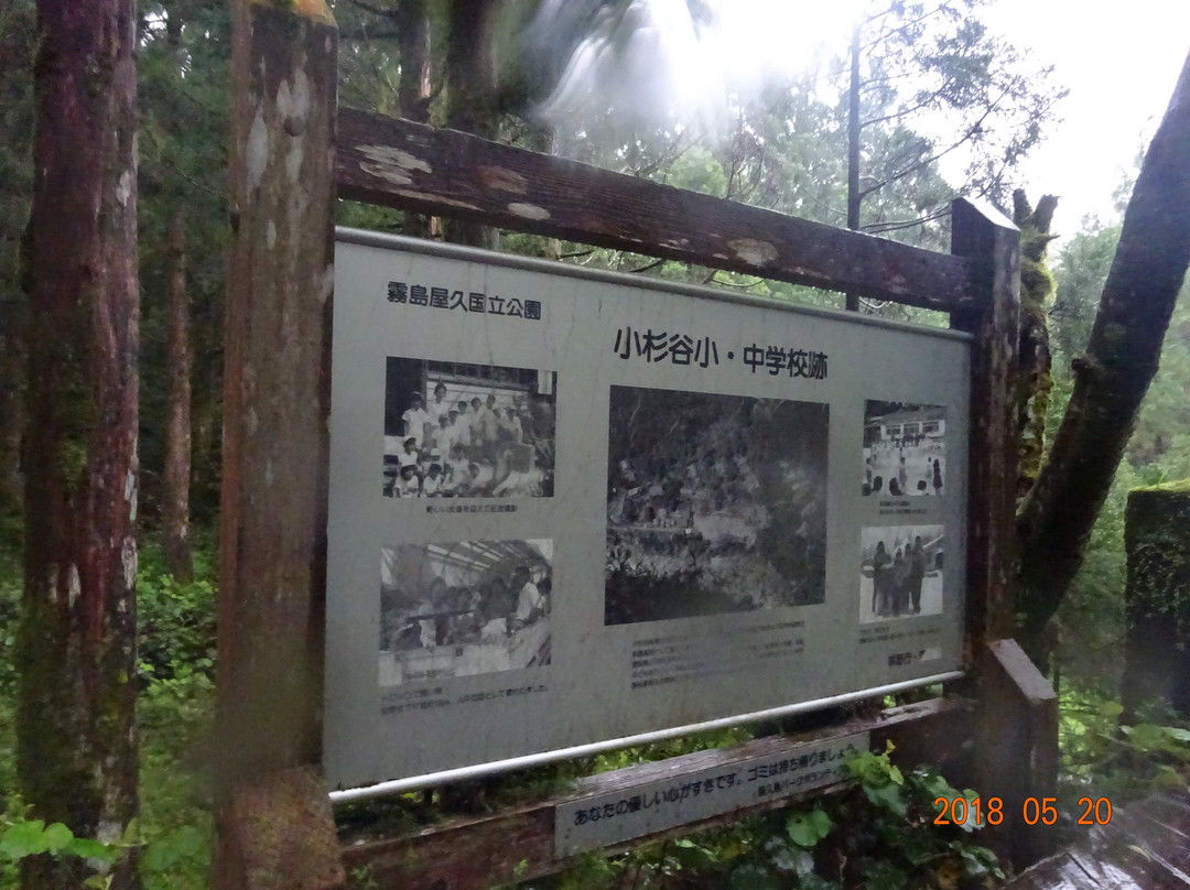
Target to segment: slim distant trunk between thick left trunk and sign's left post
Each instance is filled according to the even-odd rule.
[[[167,247],[165,361],[169,368],[165,425],[165,469],[162,493],[162,546],[165,566],[188,582],[190,562],[190,301],[186,289],[186,223],[178,213],[169,228]]]

